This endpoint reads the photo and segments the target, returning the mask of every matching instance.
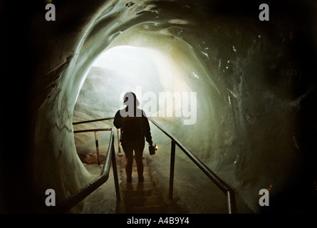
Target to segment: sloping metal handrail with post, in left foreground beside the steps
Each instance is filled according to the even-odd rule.
[[[103,170],[100,176],[97,177],[92,182],[88,183],[88,185],[85,185],[84,187],[82,187],[75,194],[71,195],[71,197],[68,197],[67,199],[65,199],[63,202],[61,202],[61,204],[58,204],[56,206],[56,209],[54,209],[53,212],[58,212],[58,213],[68,212],[81,200],[85,199],[85,197],[87,197],[92,192],[94,192],[98,187],[100,187],[100,185],[103,185],[103,183],[105,183],[109,178],[110,166],[111,166],[110,162],[112,162],[112,165],[113,165],[113,176],[115,179],[115,194],[116,194],[117,200],[120,201],[118,170],[117,170],[117,163],[115,160],[113,128],[110,128],[110,130],[111,130],[111,134],[110,134],[107,155],[105,157],[105,165],[103,165]]]

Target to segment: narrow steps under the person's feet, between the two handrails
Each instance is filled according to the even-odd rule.
[[[164,214],[167,207],[162,195],[157,192],[155,183],[152,181],[146,158],[143,158],[144,182],[137,180],[137,165],[133,159],[132,183],[127,183],[125,173],[125,156],[120,158],[120,177],[125,213],[127,214]]]

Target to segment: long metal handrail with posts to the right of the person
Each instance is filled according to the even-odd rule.
[[[170,199],[172,199],[172,193],[173,193],[173,181],[174,181],[174,166],[175,166],[175,144],[180,147],[180,150],[185,152],[185,155],[190,158],[194,162],[197,167],[199,167],[202,172],[204,172],[207,177],[209,177],[212,182],[214,182],[217,187],[219,187],[222,192],[226,195],[227,198],[227,212],[229,214],[234,214],[237,213],[237,205],[236,205],[236,199],[234,197],[234,191],[232,188],[230,188],[223,180],[221,180],[217,175],[212,172],[212,170],[209,169],[204,163],[199,160],[195,155],[192,154],[187,148],[182,145],[173,135],[170,133],[167,133],[165,130],[163,130],[160,125],[158,125],[152,118],[148,118],[157,128],[159,128],[162,133],[165,133],[168,138],[172,140],[172,145],[171,145],[171,165],[170,165],[170,192],[169,196]]]

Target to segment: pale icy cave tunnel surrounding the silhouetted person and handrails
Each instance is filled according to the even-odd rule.
[[[29,73],[16,69],[27,94],[17,127],[26,136],[7,141],[18,157],[11,175],[10,155],[1,156],[1,212],[45,212],[47,189],[58,204],[93,180],[100,166],[80,155],[94,141],[73,123],[113,117],[127,91],[232,187],[238,213],[316,212],[316,3],[268,1],[270,21],[259,20],[258,1],[52,3],[56,21],[45,20],[47,2],[23,12]],[[162,94],[174,95],[172,116],[160,112]],[[191,107],[178,109],[185,98]],[[145,147],[145,157],[167,195],[170,140],[150,126],[159,150],[149,156]],[[103,152],[108,140],[100,134]],[[112,172],[102,188],[70,212],[116,213]],[[269,207],[259,205],[261,189]],[[226,213],[223,193],[179,149],[174,198],[163,199],[171,212]]]

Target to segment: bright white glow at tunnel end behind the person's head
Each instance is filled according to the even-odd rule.
[[[182,80],[187,73],[175,64],[170,55],[153,48],[136,46],[108,48],[90,64],[80,82],[80,89],[85,78],[90,76],[91,68],[100,69],[102,74],[101,81],[97,83],[99,85],[94,83],[94,90],[100,95],[105,94],[102,81],[111,78],[114,93],[108,96],[117,96],[119,104],[123,105],[123,96],[130,91],[135,93],[139,107],[148,117],[182,118],[184,125],[197,122],[197,92]],[[193,78],[199,79],[194,69],[190,73]],[[108,97],[104,95],[100,99]]]

